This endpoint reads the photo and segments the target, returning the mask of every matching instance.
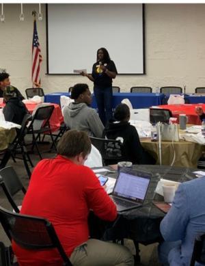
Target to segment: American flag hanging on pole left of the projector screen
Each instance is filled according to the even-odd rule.
[[[33,22],[33,43],[32,43],[32,81],[33,83],[40,83],[40,64],[42,62],[42,55],[40,51],[40,44],[38,41],[38,32],[36,27],[36,18]]]

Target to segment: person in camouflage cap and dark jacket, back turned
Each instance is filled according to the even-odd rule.
[[[3,114],[6,121],[21,124],[25,114],[29,114],[25,104],[16,97],[16,93],[12,90],[12,86],[7,86],[3,92],[5,107]]]

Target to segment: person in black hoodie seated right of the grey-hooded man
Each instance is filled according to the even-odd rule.
[[[114,112],[115,120],[109,121],[103,131],[103,137],[120,140],[123,143],[126,161],[135,164],[154,164],[154,158],[141,146],[137,130],[128,122],[130,117],[129,107],[120,103]]]

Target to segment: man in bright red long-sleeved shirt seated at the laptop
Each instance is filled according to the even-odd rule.
[[[89,239],[90,209],[103,220],[117,217],[115,204],[94,172],[83,165],[91,150],[83,131],[67,131],[57,145],[57,157],[34,168],[20,213],[52,222],[72,265],[134,265],[129,250],[115,243]],[[25,250],[13,243],[21,266],[62,265],[55,249]]]

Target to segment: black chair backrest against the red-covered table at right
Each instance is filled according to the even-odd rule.
[[[169,118],[172,118],[172,112],[169,109],[150,108],[150,123],[157,122],[169,123]]]

